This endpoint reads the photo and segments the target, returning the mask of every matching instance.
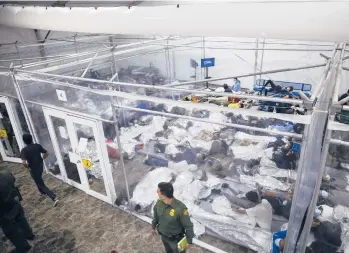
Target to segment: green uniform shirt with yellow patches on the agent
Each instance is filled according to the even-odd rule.
[[[194,238],[193,223],[190,221],[187,207],[178,199],[173,199],[171,205],[166,205],[158,200],[154,206],[153,229],[171,237],[185,233],[188,243],[192,244]]]

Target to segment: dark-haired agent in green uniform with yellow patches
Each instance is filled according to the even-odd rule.
[[[187,236],[188,245],[194,238],[193,223],[190,221],[187,207],[173,197],[171,183],[160,183],[157,190],[159,200],[154,206],[152,234],[160,234],[166,253],[178,253],[178,242]]]

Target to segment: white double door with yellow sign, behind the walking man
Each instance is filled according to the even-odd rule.
[[[100,121],[43,108],[63,179],[98,199],[116,198]]]

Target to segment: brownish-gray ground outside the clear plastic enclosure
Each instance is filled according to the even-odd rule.
[[[46,175],[45,182],[61,200],[57,207],[40,197],[30,175],[18,164],[0,163],[0,170],[11,171],[23,195],[23,206],[36,239],[34,253],[162,253],[159,238],[150,236],[150,226],[126,212],[95,199],[60,180]],[[0,231],[0,253],[11,244]],[[230,252],[250,252],[236,245],[203,237],[210,245]],[[193,246],[189,253],[206,253]]]

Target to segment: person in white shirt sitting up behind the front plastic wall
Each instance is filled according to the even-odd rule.
[[[270,203],[265,199],[259,201],[259,197],[256,192],[248,192],[246,197],[252,202],[256,203],[256,206],[248,209],[233,208],[233,211],[253,217],[256,220],[258,227],[262,228],[263,230],[270,231],[271,221],[273,219],[273,208]]]

